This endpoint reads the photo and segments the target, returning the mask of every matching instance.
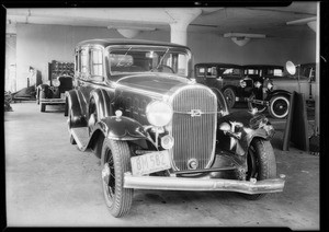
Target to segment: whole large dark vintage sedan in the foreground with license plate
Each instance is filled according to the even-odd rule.
[[[70,141],[101,159],[114,217],[134,189],[227,190],[249,199],[282,192],[268,119],[229,114],[220,91],[189,79],[191,51],[171,43],[92,39],[76,47],[66,93]]]

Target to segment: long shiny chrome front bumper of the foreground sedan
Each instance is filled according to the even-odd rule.
[[[161,190],[225,190],[245,194],[265,194],[282,192],[284,179],[272,178],[256,183],[223,178],[188,178],[172,176],[133,176],[124,175],[125,188],[161,189]]]

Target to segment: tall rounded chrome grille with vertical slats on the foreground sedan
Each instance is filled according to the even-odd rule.
[[[204,86],[186,86],[174,94],[171,104],[174,112],[170,130],[174,138],[171,150],[174,169],[189,170],[191,159],[197,160],[197,169],[208,167],[215,155],[216,95]],[[201,112],[201,116],[191,114],[195,112],[192,109]]]

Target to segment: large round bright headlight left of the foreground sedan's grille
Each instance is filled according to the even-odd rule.
[[[146,117],[148,121],[156,127],[163,127],[172,118],[172,107],[164,102],[152,102],[146,107]]]

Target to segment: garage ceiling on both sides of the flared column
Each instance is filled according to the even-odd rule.
[[[7,9],[7,32],[16,23],[98,26],[107,28],[170,30],[174,19],[167,8],[66,8]],[[184,11],[186,9],[182,9]],[[192,11],[195,9],[192,9]],[[271,8],[201,8],[202,13],[190,23],[188,31],[265,34],[266,37],[314,37],[306,23],[287,22],[317,16],[316,2],[293,2],[288,7]]]

